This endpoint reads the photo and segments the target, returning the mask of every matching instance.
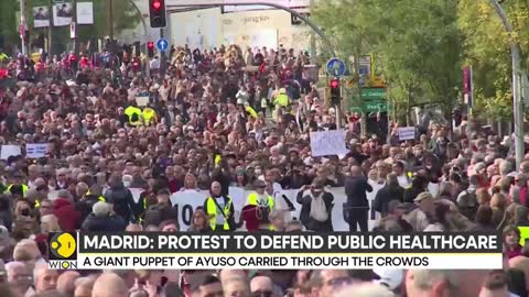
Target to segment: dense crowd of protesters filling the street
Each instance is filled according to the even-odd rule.
[[[48,143],[44,157],[0,161],[0,296],[528,296],[529,156],[465,119],[429,120],[415,141],[359,133],[344,113],[348,154],[313,157],[310,132],[337,129],[293,50],[176,47],[168,63],[130,53],[2,61],[0,143]],[[147,75],[149,68],[150,75]],[[1,82],[1,81],[0,81]],[[148,97],[147,102],[138,98]],[[230,186],[255,190],[235,217]],[[328,187],[344,187],[334,205]],[[130,188],[143,189],[134,199]],[[209,190],[181,230],[171,195]],[[282,189],[300,189],[283,199]],[[53,193],[53,195],[52,195]],[[373,204],[368,199],[373,195]],[[281,201],[280,201],[281,200]],[[301,207],[289,216],[290,204]],[[60,231],[500,230],[503,271],[52,271],[47,234]],[[368,217],[380,219],[368,230]],[[246,221],[246,226],[244,222]],[[336,268],[336,267],[330,267]]]

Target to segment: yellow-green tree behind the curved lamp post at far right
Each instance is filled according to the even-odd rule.
[[[529,53],[529,1],[509,0],[503,3],[525,55]],[[475,114],[509,121],[511,108],[511,56],[509,35],[488,0],[461,0],[458,28],[465,34],[464,58],[473,66]]]

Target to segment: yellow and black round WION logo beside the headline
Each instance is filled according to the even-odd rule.
[[[77,268],[77,235],[75,233],[50,233],[47,241],[51,270]]]

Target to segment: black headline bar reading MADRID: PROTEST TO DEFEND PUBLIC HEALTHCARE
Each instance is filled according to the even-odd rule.
[[[500,253],[497,232],[80,233],[80,253]]]

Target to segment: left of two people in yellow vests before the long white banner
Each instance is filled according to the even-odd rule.
[[[234,231],[234,200],[227,195],[223,195],[220,183],[213,182],[210,187],[210,196],[204,201],[209,220],[209,227],[213,231]]]

